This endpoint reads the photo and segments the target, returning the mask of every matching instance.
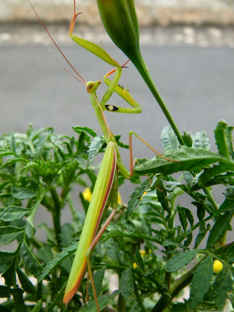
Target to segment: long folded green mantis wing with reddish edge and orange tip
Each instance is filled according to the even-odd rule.
[[[75,259],[71,267],[63,302],[68,303],[75,295],[83,280],[87,265],[86,253],[95,238],[102,212],[109,197],[117,164],[116,150],[113,142],[107,144],[101,167],[91,197],[85,223],[80,235]]]

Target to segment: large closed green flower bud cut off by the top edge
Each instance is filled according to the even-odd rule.
[[[134,0],[97,0],[106,32],[129,59],[139,50],[139,26]]]

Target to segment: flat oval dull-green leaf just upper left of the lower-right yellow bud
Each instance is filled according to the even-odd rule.
[[[198,254],[198,250],[187,250],[178,255],[173,256],[166,262],[165,270],[174,272],[190,263]]]

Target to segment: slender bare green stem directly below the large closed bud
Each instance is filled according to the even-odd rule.
[[[139,71],[140,75],[144,79],[145,83],[147,84],[149,90],[154,95],[155,100],[158,102],[158,105],[160,106],[161,110],[163,111],[163,114],[167,118],[170,126],[172,127],[175,135],[178,138],[178,141],[181,145],[185,145],[183,142],[183,139],[181,137],[181,134],[177,128],[177,125],[174,122],[174,119],[172,118],[172,115],[170,114],[167,105],[163,101],[163,98],[161,97],[160,93],[158,92],[158,89],[156,88],[156,85],[154,84],[154,81],[152,77],[149,74],[148,68],[145,65],[145,62],[143,61],[143,57],[140,53],[139,49],[136,49],[134,53],[131,53],[131,61],[136,67],[136,69]]]

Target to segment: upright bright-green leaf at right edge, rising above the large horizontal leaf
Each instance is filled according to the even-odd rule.
[[[221,120],[217,124],[214,133],[219,154],[226,158],[230,158],[232,141],[226,121]]]

